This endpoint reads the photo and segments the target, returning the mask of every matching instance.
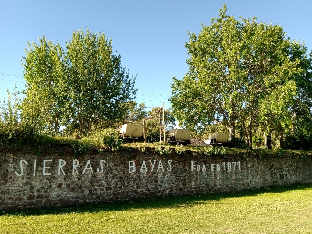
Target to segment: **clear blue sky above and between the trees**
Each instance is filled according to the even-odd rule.
[[[22,56],[27,41],[65,41],[86,27],[112,38],[130,74],[137,74],[136,101],[169,107],[172,76],[182,79],[188,70],[188,31],[210,25],[218,9],[227,5],[236,18],[257,17],[260,22],[279,23],[291,39],[305,41],[312,49],[311,1],[2,1],[0,7],[0,99],[6,90],[24,88]],[[9,74],[3,75],[3,74]]]

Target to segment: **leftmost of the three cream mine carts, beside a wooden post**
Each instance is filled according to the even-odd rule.
[[[120,138],[127,142],[143,142],[143,125],[123,124],[119,126]]]

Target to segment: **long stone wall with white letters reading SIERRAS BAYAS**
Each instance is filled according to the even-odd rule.
[[[312,157],[178,156],[174,149],[160,156],[149,148],[75,157],[69,145],[39,156],[18,151],[0,150],[0,211],[312,182]]]

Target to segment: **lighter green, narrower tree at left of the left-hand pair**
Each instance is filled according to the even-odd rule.
[[[59,43],[55,45],[43,36],[39,38],[39,44],[28,42],[25,52],[22,63],[26,80],[23,118],[57,133],[60,123],[64,124],[68,100],[64,51]]]

